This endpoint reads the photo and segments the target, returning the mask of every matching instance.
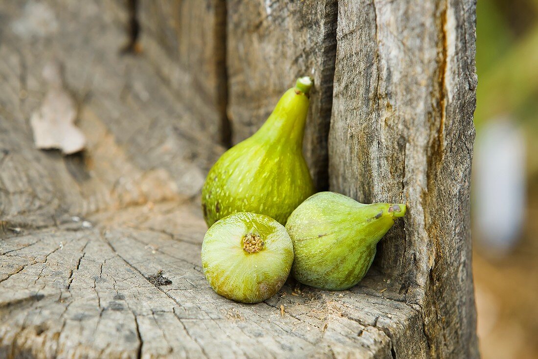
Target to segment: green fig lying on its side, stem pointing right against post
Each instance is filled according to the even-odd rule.
[[[293,276],[323,290],[351,288],[372,265],[376,244],[405,213],[403,204],[364,205],[334,192],[310,196],[286,224],[295,251]]]

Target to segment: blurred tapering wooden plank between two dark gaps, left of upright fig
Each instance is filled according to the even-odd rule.
[[[211,138],[230,141],[226,116],[224,0],[139,0],[144,57]]]

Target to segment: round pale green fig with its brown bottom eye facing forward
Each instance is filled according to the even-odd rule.
[[[293,263],[293,243],[282,224],[262,214],[239,212],[209,228],[202,268],[225,298],[258,303],[276,294]]]

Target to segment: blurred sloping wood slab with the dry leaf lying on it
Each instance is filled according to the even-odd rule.
[[[103,24],[94,2],[36,4],[2,4],[2,220],[40,227],[73,213],[197,194],[222,150],[149,64],[120,54],[121,27],[95,25]],[[36,11],[52,14],[52,32],[31,32]],[[27,125],[46,94],[43,67],[55,58],[88,139],[88,151],[76,156],[34,150]]]

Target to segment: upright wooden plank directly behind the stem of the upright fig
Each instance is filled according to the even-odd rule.
[[[299,76],[314,78],[304,152],[327,188],[327,137],[335,64],[336,0],[228,2],[227,65],[233,142],[254,133]]]

